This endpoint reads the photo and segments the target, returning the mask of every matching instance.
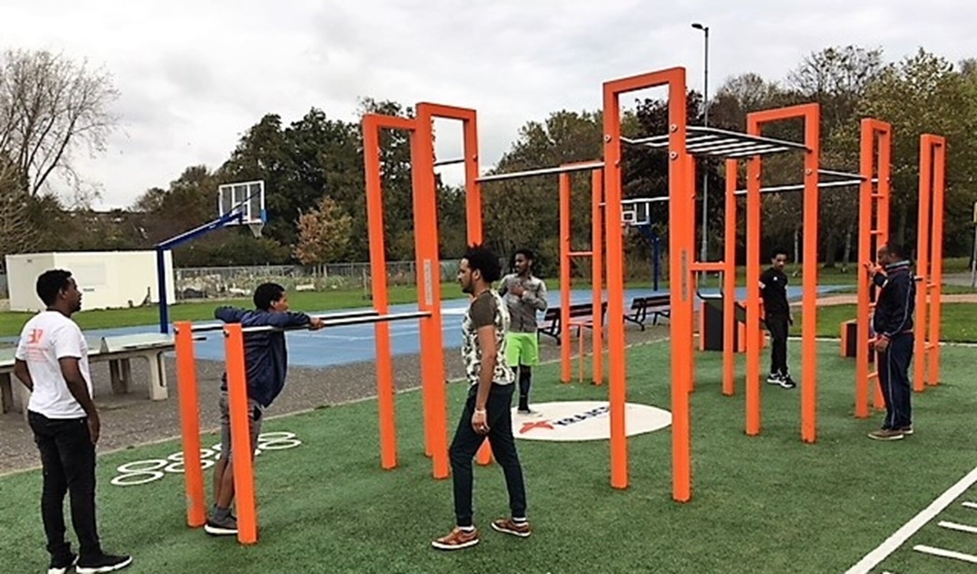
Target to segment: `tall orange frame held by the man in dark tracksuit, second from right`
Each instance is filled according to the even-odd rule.
[[[875,252],[889,237],[889,204],[891,202],[892,126],[871,118],[862,120],[861,175],[859,188],[859,246],[860,262],[875,260]],[[878,178],[878,184],[872,178]],[[874,289],[868,280],[859,281],[858,320],[855,354],[855,416],[866,418],[870,414],[869,393],[871,381],[878,380],[878,372],[869,369],[870,321],[874,308]],[[878,365],[878,356],[875,356]],[[882,390],[875,385],[872,402],[875,408],[884,408]]]

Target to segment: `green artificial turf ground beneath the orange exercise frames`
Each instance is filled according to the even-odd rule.
[[[820,348],[819,439],[799,439],[799,391],[763,389],[763,433],[743,434],[743,388],[719,392],[721,356],[699,355],[693,396],[694,499],[670,494],[668,431],[629,441],[631,485],[609,485],[608,443],[520,441],[535,531],[526,540],[491,531],[507,512],[501,472],[476,471],[482,544],[442,554],[429,546],[452,523],[449,481],[430,478],[422,454],[420,394],[398,397],[401,468],[379,468],[376,403],[273,419],[299,448],[258,458],[259,543],[208,538],[185,525],[183,482],[167,474],[143,486],[109,484],[123,463],[163,457],[176,441],[107,454],[99,465],[106,549],[135,556],[136,572],[842,572],[884,541],[975,465],[969,431],[977,409],[972,349],[944,351],[944,384],[913,395],[916,434],[878,443],[879,417],[851,415],[854,363]],[[796,359],[797,355],[792,354]],[[668,346],[629,351],[628,398],[667,407]],[[742,368],[742,358],[741,358]],[[606,388],[560,385],[558,365],[537,371],[533,398],[595,400]],[[286,390],[287,391],[287,390]],[[466,389],[449,386],[449,411]],[[274,409],[273,409],[274,413]],[[210,436],[204,444],[217,439]],[[40,472],[0,477],[0,571],[42,571]],[[977,487],[970,498],[977,500]],[[948,509],[941,519],[969,520]],[[947,517],[950,518],[947,518]],[[970,572],[913,553],[913,544],[977,552],[972,534],[926,526],[885,560],[898,572]],[[882,570],[877,570],[881,572]]]

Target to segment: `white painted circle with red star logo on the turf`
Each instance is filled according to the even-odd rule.
[[[608,440],[611,405],[607,401],[576,400],[533,403],[530,415],[512,409],[512,434],[527,440]],[[624,427],[628,436],[659,431],[671,425],[671,413],[647,404],[626,403]]]

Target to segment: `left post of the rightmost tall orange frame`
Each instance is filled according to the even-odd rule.
[[[930,212],[933,197],[933,150],[928,145],[925,135],[919,139],[919,215],[916,226],[918,238],[916,240],[916,275],[920,281],[916,284],[915,325],[916,338],[913,354],[913,390],[922,392],[926,389],[926,310],[929,303],[929,285],[932,280],[930,274],[930,235],[932,233]]]

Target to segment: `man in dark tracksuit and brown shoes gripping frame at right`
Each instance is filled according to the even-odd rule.
[[[913,434],[910,362],[913,360],[915,282],[905,248],[895,244],[878,250],[879,267],[870,268],[879,288],[871,327],[878,351],[878,383],[885,399],[885,421],[875,440],[899,440]]]

